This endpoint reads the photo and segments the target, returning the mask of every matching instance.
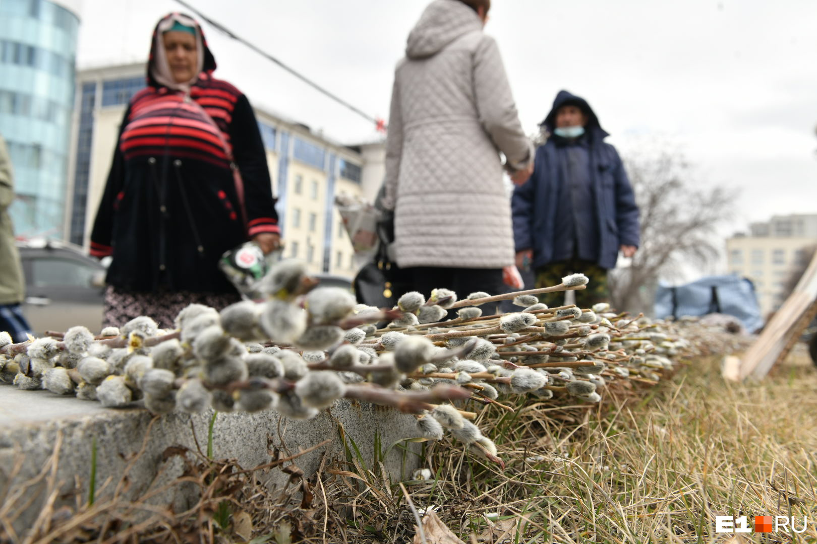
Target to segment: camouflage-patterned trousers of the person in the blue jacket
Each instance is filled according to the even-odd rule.
[[[536,288],[552,287],[559,285],[561,279],[569,274],[583,273],[590,282],[587,289],[574,291],[576,294],[576,306],[588,308],[596,303],[609,302],[609,290],[607,289],[607,268],[601,268],[592,261],[582,259],[569,259],[548,263],[536,269]],[[539,295],[539,300],[547,304],[548,307],[562,306],[565,303],[564,293],[544,293]]]

